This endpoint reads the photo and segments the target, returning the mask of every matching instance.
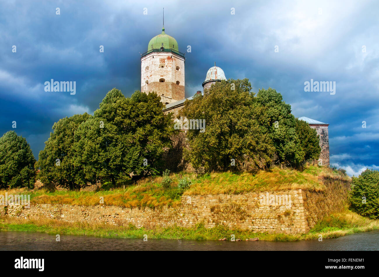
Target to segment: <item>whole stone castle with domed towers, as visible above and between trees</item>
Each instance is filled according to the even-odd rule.
[[[163,27],[162,33],[150,40],[147,52],[141,54],[141,91],[144,93],[155,91],[161,97],[161,102],[166,104],[166,107],[163,109],[164,113],[172,113],[174,117],[183,108],[186,100],[193,99],[193,97],[185,98],[184,68],[185,54],[179,52],[177,41],[167,35]],[[208,70],[202,83],[203,91],[208,90],[212,84],[221,82],[221,80],[227,79],[224,71],[216,67],[215,63],[215,66]],[[197,91],[197,93],[202,92]],[[329,166],[329,124],[306,117],[301,117],[299,120],[306,121],[320,135],[320,159],[324,166]],[[180,135],[177,138],[173,138],[173,142],[174,150],[170,150],[170,152],[174,151],[176,154],[182,153],[185,136]],[[168,153],[167,156],[173,156],[174,152]],[[177,167],[184,169],[186,166],[182,155],[176,156],[171,168],[175,168],[176,164]]]

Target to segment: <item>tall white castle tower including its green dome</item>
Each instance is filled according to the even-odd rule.
[[[184,65],[178,43],[163,27],[162,33],[150,40],[147,52],[141,54],[141,92],[155,91],[164,104],[183,100]]]

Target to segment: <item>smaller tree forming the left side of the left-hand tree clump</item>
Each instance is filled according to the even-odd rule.
[[[79,125],[89,118],[88,113],[73,115],[55,122],[44,150],[39,152],[36,168],[40,169],[38,178],[42,183],[54,183],[74,189],[80,184],[76,176],[81,170],[72,163],[74,159],[74,135]]]

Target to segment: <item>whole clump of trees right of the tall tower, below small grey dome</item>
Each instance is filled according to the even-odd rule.
[[[298,167],[321,152],[316,131],[291,115],[282,95],[269,88],[255,96],[248,79],[217,82],[186,101],[180,115],[206,122],[205,132],[187,132],[185,156],[196,168],[233,170],[235,159],[237,167],[247,161],[262,169],[275,154],[280,163]]]

